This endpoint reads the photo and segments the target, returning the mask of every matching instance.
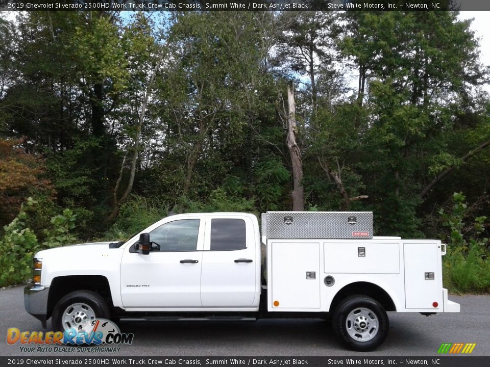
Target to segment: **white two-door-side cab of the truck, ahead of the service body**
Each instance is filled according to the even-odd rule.
[[[260,237],[250,214],[175,215],[155,223],[151,249],[124,245],[120,306],[128,311],[257,311]]]

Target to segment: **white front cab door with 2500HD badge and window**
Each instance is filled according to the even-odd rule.
[[[127,308],[197,308],[205,218],[169,221],[150,232],[154,248],[142,255],[125,249],[121,263],[121,299]]]

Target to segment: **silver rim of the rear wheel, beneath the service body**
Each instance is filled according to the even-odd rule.
[[[369,308],[355,308],[347,315],[346,329],[349,336],[354,340],[367,342],[378,333],[378,317]]]

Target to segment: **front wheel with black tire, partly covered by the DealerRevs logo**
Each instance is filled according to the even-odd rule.
[[[53,310],[54,331],[74,328],[86,331],[93,319],[109,319],[110,310],[105,299],[92,291],[75,291],[61,298]]]

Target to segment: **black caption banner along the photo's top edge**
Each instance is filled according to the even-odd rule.
[[[481,0],[0,0],[0,11],[485,11]]]

